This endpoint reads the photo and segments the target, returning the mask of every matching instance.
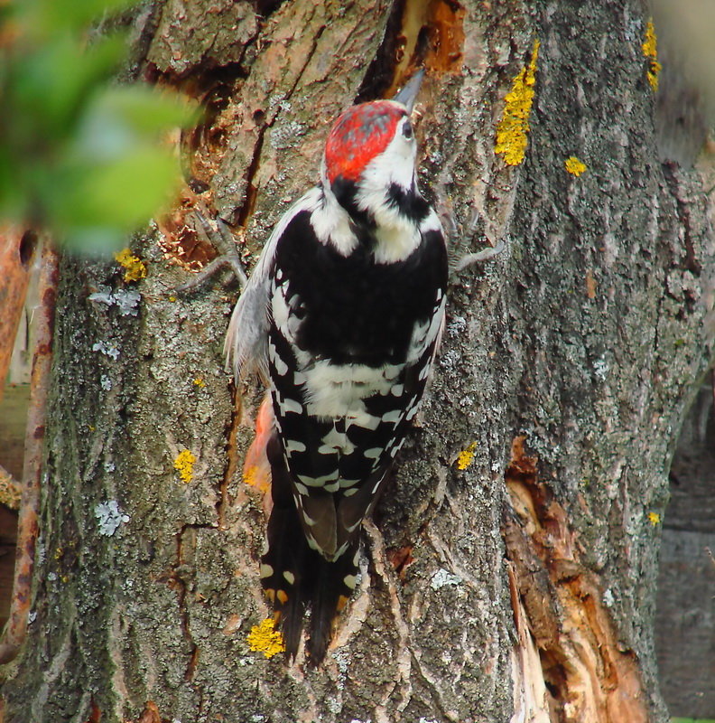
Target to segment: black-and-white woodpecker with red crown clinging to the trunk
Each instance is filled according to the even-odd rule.
[[[322,661],[358,575],[374,509],[417,413],[441,337],[448,262],[415,173],[410,114],[421,78],[393,100],[348,108],[320,183],[265,244],[228,326],[228,366],[268,392],[263,430],[273,507],[260,576],[295,657]],[[260,466],[260,465],[258,465]]]

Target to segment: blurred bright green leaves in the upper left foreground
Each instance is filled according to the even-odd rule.
[[[92,23],[131,4],[0,2],[0,219],[72,249],[120,249],[172,201],[179,163],[162,138],[198,119],[176,95],[113,82],[125,35]]]

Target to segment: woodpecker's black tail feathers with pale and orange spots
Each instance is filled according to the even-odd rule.
[[[273,511],[268,520],[268,550],[261,558],[261,582],[274,610],[280,614],[285,654],[298,653],[303,619],[311,608],[308,653],[313,665],[325,657],[333,624],[355,589],[358,540],[339,559],[329,562],[311,549],[303,534],[292,498],[288,470],[280,443],[267,448],[271,462]]]

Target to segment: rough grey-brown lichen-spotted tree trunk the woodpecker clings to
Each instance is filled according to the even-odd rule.
[[[133,247],[144,279],[63,261],[6,721],[666,719],[659,520],[712,357],[715,257],[700,176],[657,159],[646,21],[636,0],[144,8],[135,74],[209,116],[184,139],[181,203]],[[532,61],[529,146],[507,166],[495,129]],[[236,291],[172,289],[210,256],[192,208],[234,224],[251,262],[316,180],[331,119],[417,63],[422,185],[451,207],[455,253],[506,250],[451,288],[421,425],[325,666],[286,667],[246,643],[267,610],[261,495],[240,474],[256,390],[234,402],[221,359]]]

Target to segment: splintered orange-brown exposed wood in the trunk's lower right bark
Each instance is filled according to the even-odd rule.
[[[554,723],[648,723],[636,656],[623,649],[599,576],[582,564],[568,515],[539,481],[537,460],[525,454],[523,437],[512,446],[506,485],[521,518],[521,528],[511,520],[505,527],[519,593],[512,598],[517,631],[525,625],[534,631],[541,656],[538,667],[531,634],[520,633],[516,650],[525,681],[534,690],[543,671]]]

